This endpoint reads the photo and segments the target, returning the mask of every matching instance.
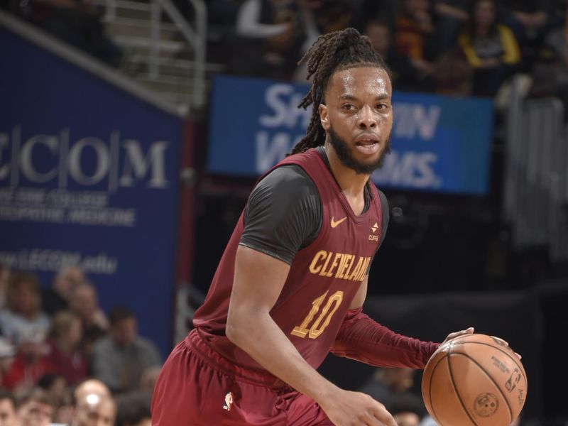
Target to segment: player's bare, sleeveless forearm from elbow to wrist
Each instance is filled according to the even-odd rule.
[[[241,312],[226,324],[226,336],[258,364],[296,391],[320,402],[336,386],[307,364],[268,312]]]

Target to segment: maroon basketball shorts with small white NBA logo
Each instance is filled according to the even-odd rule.
[[[273,388],[273,381],[224,359],[194,329],[165,361],[152,425],[333,425],[314,400],[288,386]]]

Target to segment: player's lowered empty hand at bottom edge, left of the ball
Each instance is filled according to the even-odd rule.
[[[397,426],[385,406],[365,393],[342,389],[320,406],[336,426]]]

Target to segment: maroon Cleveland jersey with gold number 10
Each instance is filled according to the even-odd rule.
[[[381,202],[376,187],[370,185],[371,205],[356,216],[314,149],[290,155],[275,167],[285,164],[299,165],[315,183],[322,204],[322,226],[315,240],[294,257],[271,317],[308,364],[317,368],[329,353],[381,241]],[[225,336],[234,260],[243,229],[241,214],[193,323],[202,339],[226,359],[259,369],[262,367],[256,361]]]

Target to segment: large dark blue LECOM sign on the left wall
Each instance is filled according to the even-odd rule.
[[[78,264],[171,348],[182,120],[0,28],[0,263]]]

